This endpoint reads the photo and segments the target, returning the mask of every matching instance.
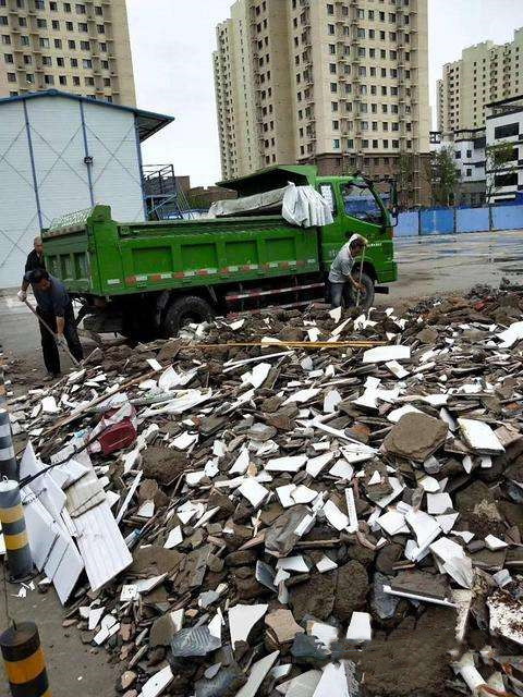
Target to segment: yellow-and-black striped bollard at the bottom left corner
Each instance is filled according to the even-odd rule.
[[[0,635],[0,648],[12,697],[51,697],[36,624],[10,627]]]

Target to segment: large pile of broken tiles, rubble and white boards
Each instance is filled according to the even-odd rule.
[[[117,690],[523,695],[522,308],[254,313],[13,398],[35,562]]]

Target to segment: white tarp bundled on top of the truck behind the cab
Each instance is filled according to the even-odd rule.
[[[288,222],[300,228],[333,222],[330,206],[321,194],[312,186],[296,186],[292,183],[253,196],[217,200],[208,212],[209,218],[264,215],[281,215]]]

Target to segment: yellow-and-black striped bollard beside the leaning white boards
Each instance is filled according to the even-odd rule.
[[[33,575],[24,509],[16,481],[0,481],[0,524],[8,553],[9,572],[12,582],[26,580]]]

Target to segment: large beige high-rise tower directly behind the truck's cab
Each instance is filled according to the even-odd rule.
[[[224,179],[290,162],[386,175],[406,157],[423,169],[427,0],[236,0],[217,44]]]

